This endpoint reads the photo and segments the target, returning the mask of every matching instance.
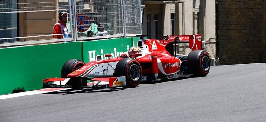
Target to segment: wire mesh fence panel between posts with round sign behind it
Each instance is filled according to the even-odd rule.
[[[76,2],[76,16],[79,39],[124,36],[121,0]]]

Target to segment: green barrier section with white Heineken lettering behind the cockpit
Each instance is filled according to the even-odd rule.
[[[83,59],[87,63],[95,61],[97,56],[106,59],[105,54],[112,54],[112,58],[128,53],[127,50],[132,46],[132,38],[114,38],[83,42]]]

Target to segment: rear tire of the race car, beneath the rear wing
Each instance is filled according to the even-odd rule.
[[[194,77],[206,76],[210,70],[210,58],[206,51],[194,50],[187,56],[187,68],[189,74]]]

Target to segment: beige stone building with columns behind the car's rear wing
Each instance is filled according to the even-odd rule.
[[[215,0],[141,0],[142,34],[160,39],[166,35],[202,34],[203,48],[215,58]],[[179,45],[187,55],[188,45]]]

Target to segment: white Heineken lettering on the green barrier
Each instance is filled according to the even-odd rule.
[[[128,46],[128,45],[127,45]],[[128,46],[129,47],[129,46]],[[110,54],[112,55],[111,58],[116,58],[116,57],[119,57],[121,56],[122,54],[127,54],[128,55],[128,52],[117,52],[116,48],[113,48],[113,51],[114,52],[111,52]],[[104,55],[105,54],[109,54],[109,53],[104,53],[104,50],[101,49],[101,54],[96,54],[96,50],[91,50],[91,51],[88,51],[88,54],[89,54],[89,61],[96,61],[97,60],[97,56],[100,56],[101,57],[101,60],[103,59],[108,59],[108,57],[105,57]]]

